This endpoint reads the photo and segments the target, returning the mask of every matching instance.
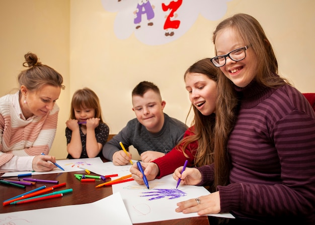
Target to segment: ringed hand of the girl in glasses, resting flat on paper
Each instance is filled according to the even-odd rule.
[[[191,212],[197,212],[198,215],[219,213],[221,211],[220,194],[216,191],[196,199],[179,202],[177,206],[178,208],[176,208],[175,211],[185,214]]]

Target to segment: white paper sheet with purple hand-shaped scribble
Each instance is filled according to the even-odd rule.
[[[178,218],[188,218],[199,216],[197,213],[184,214],[181,212],[175,212],[177,208],[176,203],[180,201],[185,201],[192,198],[197,198],[202,195],[207,195],[209,192],[204,187],[190,186],[190,185],[180,185],[178,190],[186,193],[186,196],[170,199],[170,196],[167,195],[165,190],[156,190],[156,189],[168,189],[169,192],[176,194],[176,184],[177,182],[173,179],[172,175],[168,175],[161,179],[155,179],[149,181],[149,188],[147,189],[145,185],[139,185],[135,181],[129,181],[125,183],[115,184],[112,186],[113,193],[120,192],[122,199],[125,203],[131,221],[133,223],[141,222],[154,222],[161,220],[169,219],[178,219]],[[172,190],[170,190],[172,189]],[[173,190],[175,189],[175,190]],[[162,192],[162,194],[155,196],[146,196],[153,193],[147,192]],[[147,193],[147,194],[146,194]],[[153,197],[165,196],[160,199],[153,199]],[[220,213],[220,214],[211,214],[218,217],[234,218],[230,213]]]

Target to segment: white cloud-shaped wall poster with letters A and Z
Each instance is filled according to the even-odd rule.
[[[162,45],[184,35],[199,14],[219,20],[230,0],[101,0],[104,9],[117,13],[114,32],[117,38],[135,37],[147,45]]]

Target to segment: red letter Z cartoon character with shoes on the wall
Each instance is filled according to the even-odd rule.
[[[162,10],[164,12],[170,12],[169,15],[166,15],[166,21],[164,23],[164,30],[165,30],[165,36],[173,36],[174,35],[174,29],[178,29],[179,25],[181,23],[180,20],[174,20],[178,17],[176,11],[180,8],[182,5],[183,0],[177,0],[170,2],[169,5],[165,5],[162,3]]]

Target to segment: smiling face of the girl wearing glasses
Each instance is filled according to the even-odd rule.
[[[215,38],[217,55],[225,55],[230,51],[249,45],[244,43],[240,35],[233,28],[225,28],[218,31]],[[224,75],[236,86],[244,88],[249,85],[256,76],[257,57],[252,48],[246,50],[246,57],[241,61],[233,61],[226,58],[225,65],[220,67]]]

